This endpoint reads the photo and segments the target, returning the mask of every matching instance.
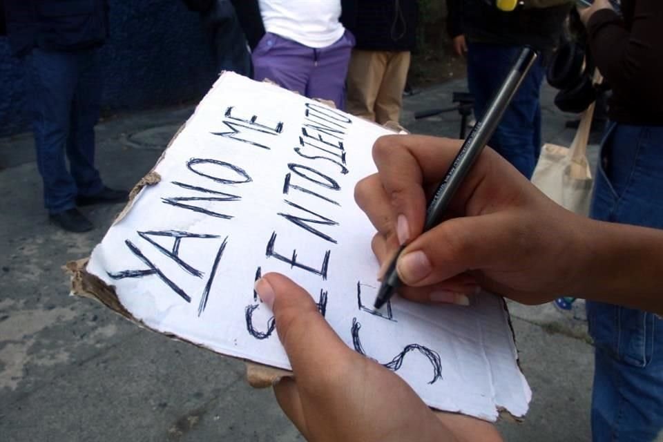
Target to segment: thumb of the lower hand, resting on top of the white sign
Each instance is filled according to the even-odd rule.
[[[314,381],[354,354],[320,314],[311,295],[289,278],[267,273],[256,282],[256,292],[273,311],[276,332],[298,384]]]

